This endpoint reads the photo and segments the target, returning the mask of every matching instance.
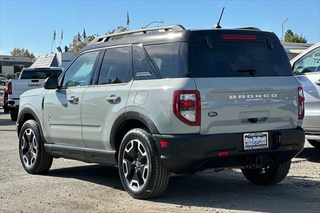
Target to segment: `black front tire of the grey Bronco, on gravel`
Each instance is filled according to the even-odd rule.
[[[31,129],[31,131],[29,129]],[[27,137],[26,134],[28,132],[31,132],[31,134],[33,133],[33,136],[32,135],[30,136],[31,139],[26,138]],[[34,155],[36,157],[34,158],[33,163],[30,163],[30,165],[28,165],[26,164],[26,160],[28,160],[27,159],[28,157],[26,155],[28,155],[28,153],[26,153],[25,148],[22,149],[22,147],[25,141],[30,141],[30,140],[33,141],[33,138],[35,138],[35,142],[36,142],[36,145],[34,145],[35,147],[33,146],[34,147],[33,153],[35,153]],[[30,150],[30,149],[26,148],[26,150]],[[24,155],[22,151],[24,152]],[[40,135],[39,126],[37,122],[34,120],[25,121],[21,127],[21,131],[19,135],[19,155],[20,155],[20,161],[24,170],[30,174],[43,174],[43,173],[46,173],[51,167],[53,157],[45,152],[44,142]],[[30,162],[32,162],[32,159],[30,159]]]

